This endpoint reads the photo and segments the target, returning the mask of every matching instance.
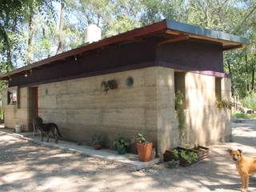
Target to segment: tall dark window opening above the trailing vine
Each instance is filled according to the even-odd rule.
[[[186,108],[185,72],[174,72],[174,90],[175,94],[177,94],[178,91],[183,94],[182,105]]]

